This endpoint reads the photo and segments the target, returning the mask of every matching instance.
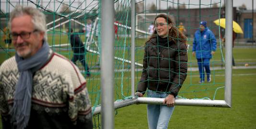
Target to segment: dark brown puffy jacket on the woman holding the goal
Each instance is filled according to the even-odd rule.
[[[137,91],[144,94],[148,88],[176,97],[186,79],[187,47],[185,43],[174,41],[160,47],[162,46],[158,45],[157,37],[146,43],[143,71]]]

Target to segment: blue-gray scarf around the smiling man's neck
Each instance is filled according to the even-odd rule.
[[[10,114],[12,116],[12,124],[17,129],[24,129],[28,124],[31,109],[33,74],[46,64],[49,50],[48,43],[44,42],[42,48],[28,59],[23,59],[17,53],[15,54],[20,77],[15,87],[14,104]]]

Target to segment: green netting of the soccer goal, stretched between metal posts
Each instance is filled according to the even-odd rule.
[[[131,26],[131,0],[113,0],[115,4],[115,23],[111,24],[116,30],[115,37],[115,100],[121,101],[131,98],[130,88],[130,26]],[[195,2],[197,1],[197,2]],[[159,9],[159,3],[161,8]],[[12,2],[1,1],[0,11],[0,63],[14,55],[15,51],[11,45],[5,46],[2,35],[3,29],[8,25],[9,13],[17,5],[34,6],[42,10],[47,15],[47,41],[51,48],[67,58],[71,59],[73,52],[70,47],[70,30],[73,28],[81,40],[84,42],[87,52],[84,53],[85,60],[90,68],[91,76],[87,77],[86,72],[80,62],[77,62],[81,73],[87,79],[87,87],[92,101],[92,106],[101,104],[101,78],[100,78],[100,48],[104,41],[100,37],[100,0],[19,0]],[[188,72],[184,85],[178,97],[188,99],[223,99],[224,69],[223,54],[221,48],[221,28],[212,21],[221,18],[221,0],[213,3],[212,0],[187,0],[185,3],[178,3],[178,0],[136,0],[136,76],[135,84],[140,81],[142,72],[142,62],[144,55],[144,45],[151,36],[149,26],[154,22],[157,14],[164,13],[175,21],[178,27],[183,22],[186,29],[188,44]],[[210,83],[199,84],[199,73],[197,60],[192,56],[192,42],[194,32],[198,30],[200,21],[208,21],[217,39],[216,54],[210,60],[211,79]],[[91,23],[91,26],[90,26]],[[183,27],[181,27],[183,28]],[[87,32],[84,32],[86,30]],[[159,69],[157,69],[159,70]],[[177,73],[178,74],[178,73]],[[94,108],[93,108],[94,109]],[[94,128],[100,128],[100,115],[93,117]]]

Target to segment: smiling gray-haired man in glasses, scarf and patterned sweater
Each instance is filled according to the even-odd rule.
[[[93,129],[86,80],[49,48],[45,15],[17,6],[10,25],[16,53],[0,66],[3,129]]]

